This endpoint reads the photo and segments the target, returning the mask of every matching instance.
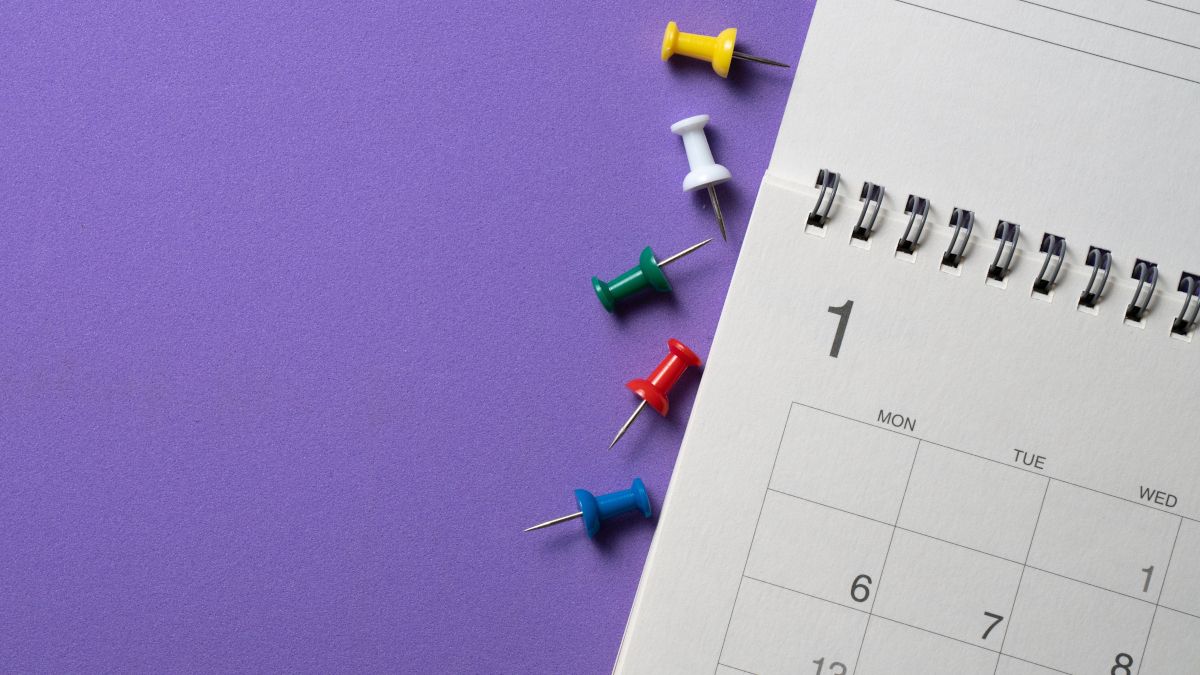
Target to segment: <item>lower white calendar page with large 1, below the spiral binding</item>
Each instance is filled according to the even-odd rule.
[[[989,282],[990,238],[946,271],[944,222],[898,256],[815,196],[760,192],[617,670],[1200,671],[1174,297],[1126,324],[1123,280],[1080,311],[1086,268],[1034,295],[1037,251]]]

